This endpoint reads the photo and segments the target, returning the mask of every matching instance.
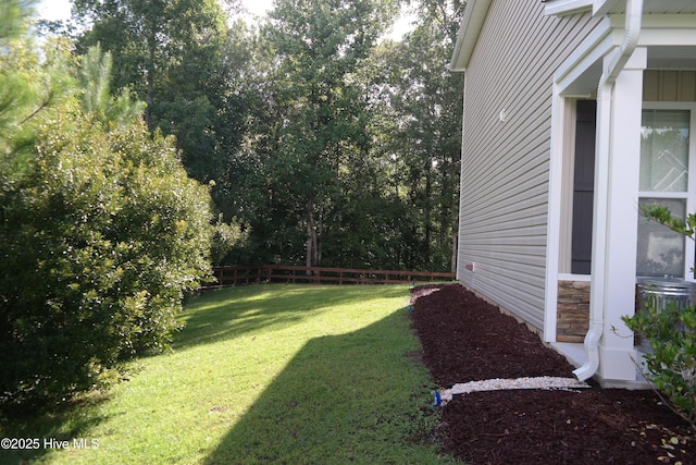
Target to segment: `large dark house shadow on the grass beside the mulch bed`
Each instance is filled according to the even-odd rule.
[[[443,463],[407,315],[309,341],[203,463]]]

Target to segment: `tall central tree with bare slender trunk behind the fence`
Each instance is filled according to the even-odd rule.
[[[338,173],[364,149],[365,108],[356,73],[394,20],[393,0],[278,0],[264,29],[275,52],[278,120],[271,170],[306,230],[306,264],[321,236]]]

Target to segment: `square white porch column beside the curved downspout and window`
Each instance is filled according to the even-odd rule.
[[[635,309],[641,113],[643,71],[646,66],[647,51],[637,48],[613,85],[611,121],[597,121],[602,130],[611,129],[606,186],[604,302],[600,304],[604,331],[599,341],[598,368],[599,377],[607,381],[636,379],[633,338],[626,338],[631,331],[621,317],[633,315]],[[595,285],[594,280],[592,285]]]

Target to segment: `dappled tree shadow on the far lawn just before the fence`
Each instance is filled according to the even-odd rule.
[[[186,306],[182,315],[186,326],[172,345],[182,350],[293,325],[316,311],[330,311],[333,306],[355,302],[370,286],[341,286],[335,293],[331,289],[331,285],[259,284],[210,291]],[[394,286],[382,295],[398,297],[403,295],[403,289]]]

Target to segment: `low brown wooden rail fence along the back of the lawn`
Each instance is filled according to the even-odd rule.
[[[399,270],[363,270],[351,268],[291,267],[213,267],[217,282],[212,286],[250,284],[254,282],[309,282],[314,284],[402,284],[412,282],[453,281],[455,273]]]

